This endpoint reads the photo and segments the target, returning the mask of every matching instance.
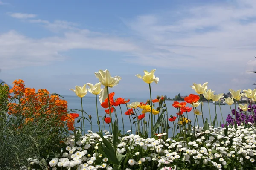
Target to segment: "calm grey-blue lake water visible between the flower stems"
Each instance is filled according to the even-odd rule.
[[[68,107],[69,109],[81,109],[81,98],[77,97],[77,96],[63,96],[64,99],[68,102]],[[125,100],[128,98],[125,98]],[[154,99],[154,98],[153,98]],[[145,102],[147,101],[146,98],[130,98],[130,102],[128,104],[130,104],[131,102]],[[177,108],[172,107],[174,101],[166,101],[166,106],[167,106],[167,110],[168,110],[168,115],[173,115],[173,116],[177,116]],[[155,103],[156,106],[158,107],[158,103]],[[213,103],[210,103],[210,112],[211,112],[211,116],[212,116],[212,121],[215,117],[215,105]],[[191,107],[190,104],[187,104],[187,106]],[[130,125],[130,121],[129,121],[129,117],[128,115],[125,115],[124,113],[127,111],[125,104],[121,104],[121,108],[122,108],[122,114],[123,114],[123,118],[124,118],[124,126],[125,126],[125,132],[127,130],[131,130],[131,125]],[[227,118],[227,115],[230,114],[230,106],[229,105],[221,105],[221,112],[220,112],[220,107],[219,105],[216,105],[217,108],[217,119],[218,119],[218,123],[221,121],[222,122],[222,118],[221,118],[221,112],[223,115],[223,119],[225,121],[225,119]],[[233,104],[231,106],[232,109],[235,108],[235,105]],[[87,112],[88,115],[92,115],[92,128],[93,131],[99,131],[99,127],[97,125],[97,113],[96,113],[96,101],[95,101],[95,97],[87,97],[85,96],[83,98],[83,109],[85,112]],[[201,106],[198,107],[198,109],[201,111]],[[139,110],[141,110],[139,108]],[[118,117],[118,122],[119,122],[119,130],[122,130],[122,117],[121,117],[121,112],[120,112],[120,107],[116,107],[116,111],[117,111],[117,117]],[[98,112],[100,116],[105,116],[105,109],[101,107],[99,101],[98,101]],[[79,115],[81,116],[81,112],[78,112]],[[112,113],[113,114],[113,113]],[[203,114],[204,114],[204,120],[208,117],[208,121],[209,121],[209,107],[208,107],[208,103],[204,102],[203,104]],[[149,114],[146,113],[146,120],[148,121],[148,116]],[[183,115],[185,115],[186,117],[186,113],[183,113]],[[107,115],[107,117],[109,117],[109,115]],[[114,114],[112,115],[112,118],[114,118]],[[157,116],[156,116],[157,118]],[[170,117],[168,117],[170,118]],[[194,113],[191,111],[188,113],[188,118],[191,119],[192,124],[194,123]],[[131,119],[133,121],[133,119]],[[100,126],[102,125],[102,120],[100,120]],[[135,119],[136,121],[136,119]],[[199,125],[203,125],[202,124],[202,118],[201,116],[198,116],[198,121],[199,121]],[[176,119],[177,122],[177,119]],[[209,121],[210,122],[210,121]],[[150,122],[148,122],[150,124]],[[223,122],[222,122],[223,123]],[[197,124],[197,123],[196,123]],[[135,125],[133,125],[133,130],[135,130]],[[81,123],[76,123],[76,126],[81,126]],[[172,122],[169,122],[169,126],[173,126]],[[105,124],[106,129],[109,129],[108,125]],[[90,130],[91,129],[91,125],[88,121],[85,120],[85,130]],[[150,130],[149,130],[150,132]],[[169,135],[172,135],[172,130],[169,129]]]

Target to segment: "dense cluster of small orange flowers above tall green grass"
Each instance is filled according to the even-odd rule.
[[[74,129],[74,121],[79,115],[67,112],[67,101],[60,99],[58,95],[50,95],[47,89],[25,88],[23,80],[15,80],[14,86],[9,91],[13,93],[13,98],[19,102],[9,103],[9,114],[22,114],[25,117],[25,124],[34,122],[34,118],[47,115],[48,118],[56,117],[58,124],[63,125],[67,121],[69,130]]]

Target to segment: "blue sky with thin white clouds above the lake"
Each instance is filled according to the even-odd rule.
[[[122,77],[116,96],[146,98],[134,75],[156,69],[153,95],[254,88],[255,11],[255,0],[0,0],[0,79],[74,95],[108,69]]]

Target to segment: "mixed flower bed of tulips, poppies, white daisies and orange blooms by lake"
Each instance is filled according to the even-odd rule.
[[[154,72],[136,75],[148,84],[148,101],[130,103],[114,99],[115,93],[109,92],[121,77],[99,70],[95,73],[99,83],[70,89],[81,98],[79,110],[68,109],[67,101],[46,89],[36,92],[25,87],[22,80],[14,81],[12,89],[1,84],[0,169],[256,170],[256,106],[252,103],[256,89],[230,89],[232,98],[225,98],[230,114],[223,118],[216,112],[223,93],[216,95],[208,83],[193,83],[195,94],[169,106],[177,108],[177,115],[172,116],[163,96],[152,98],[151,84],[159,81]],[[95,95],[97,132],[85,129],[85,124],[92,124],[92,116],[82,104],[87,92]],[[215,101],[209,119],[202,109],[202,96],[208,105]],[[250,98],[249,105],[239,103],[242,96]],[[99,115],[98,102],[105,115]],[[126,105],[125,111],[121,104]],[[75,111],[81,116],[71,113]],[[124,119],[118,120],[117,114],[128,115],[131,130],[124,131]],[[198,119],[203,124],[198,124]],[[75,122],[81,125],[77,127]]]

